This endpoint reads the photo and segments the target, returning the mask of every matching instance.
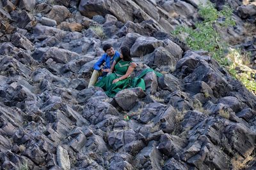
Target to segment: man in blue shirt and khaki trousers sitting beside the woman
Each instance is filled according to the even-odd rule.
[[[104,54],[100,57],[100,59],[93,66],[92,77],[89,81],[88,88],[93,87],[97,82],[99,76],[106,76],[111,72],[111,66],[113,61],[120,57],[120,53],[113,49],[113,46],[110,44],[106,44],[103,46]],[[104,64],[104,66],[103,66]]]

